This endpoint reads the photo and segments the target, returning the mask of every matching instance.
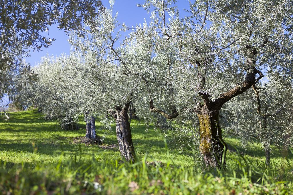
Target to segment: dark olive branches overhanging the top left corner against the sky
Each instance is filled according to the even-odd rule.
[[[42,32],[58,24],[65,32],[74,31],[84,35],[84,22],[93,21],[103,10],[99,0],[3,0],[0,2],[0,82],[1,98],[18,82],[7,77],[8,70],[26,75],[27,81],[35,80],[29,66],[23,66],[22,57],[29,49],[40,50],[48,47],[54,38]],[[91,22],[94,25],[93,22]],[[24,81],[25,82],[25,81]],[[16,86],[20,89],[20,85]]]

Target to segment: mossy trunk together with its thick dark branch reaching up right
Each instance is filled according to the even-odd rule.
[[[197,64],[199,66],[200,62],[197,62]],[[200,120],[200,151],[207,166],[221,168],[225,167],[226,164],[225,154],[227,144],[222,137],[222,129],[219,124],[220,109],[227,101],[242,94],[263,77],[263,73],[254,66],[255,60],[249,61],[248,65],[252,65],[252,69],[251,72],[247,73],[245,81],[229,91],[220,94],[214,101],[212,101],[209,93],[198,92],[202,98],[202,102],[194,109],[194,112],[197,113]],[[255,79],[256,74],[259,75],[257,79]],[[200,89],[204,89],[205,75],[199,73],[198,76],[202,80]]]

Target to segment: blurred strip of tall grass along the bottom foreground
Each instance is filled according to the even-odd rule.
[[[241,166],[229,172],[198,173],[169,164],[100,164],[94,159],[31,167],[0,167],[2,194],[292,194],[292,167]],[[250,170],[250,171],[249,171]],[[276,169],[275,169],[276,170]],[[274,171],[275,171],[274,170]],[[253,172],[253,174],[249,174]],[[280,178],[280,176],[282,178]]]

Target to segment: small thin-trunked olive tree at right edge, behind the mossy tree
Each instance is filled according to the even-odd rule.
[[[270,145],[292,146],[292,87],[270,81],[253,86],[223,109],[226,128],[245,141],[257,140],[270,164]]]

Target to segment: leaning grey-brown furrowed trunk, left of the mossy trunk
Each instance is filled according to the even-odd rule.
[[[122,160],[134,163],[136,161],[136,156],[132,143],[128,108],[129,103],[126,103],[122,108],[116,106],[115,111],[111,110],[110,113],[115,118],[117,141]]]

